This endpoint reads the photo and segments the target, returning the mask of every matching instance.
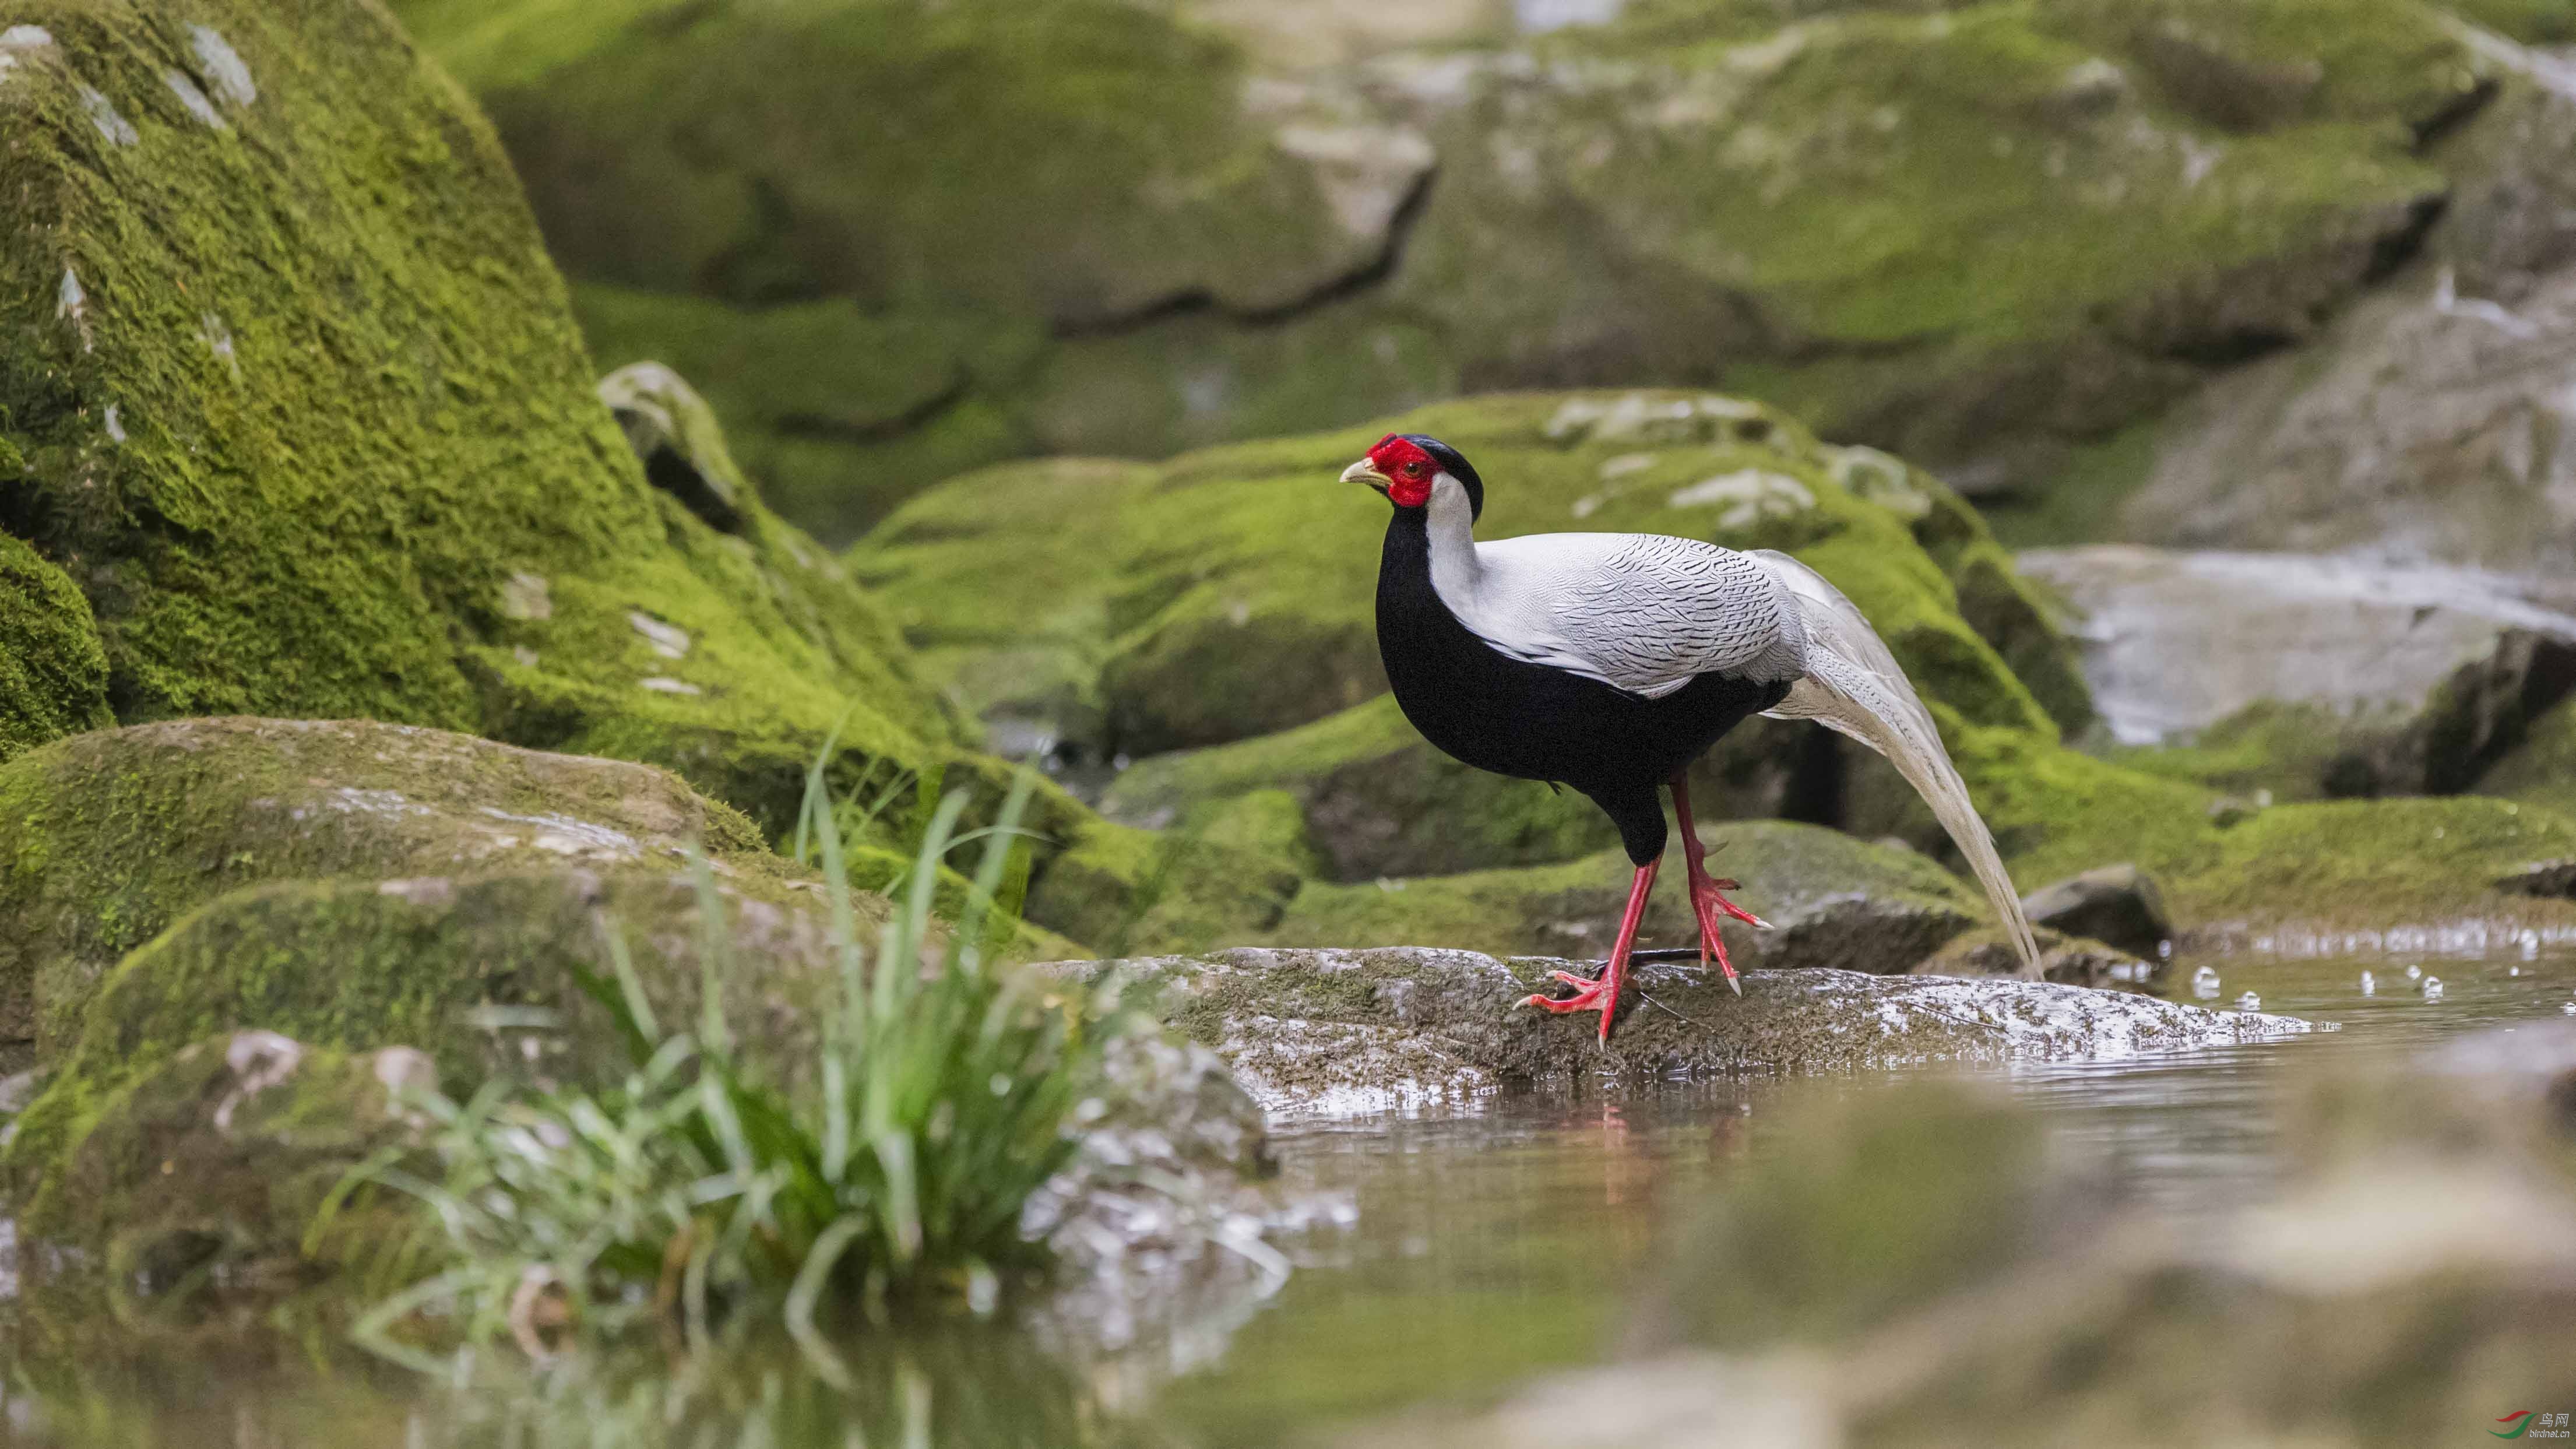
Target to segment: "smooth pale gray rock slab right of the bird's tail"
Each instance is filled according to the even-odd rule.
[[[2506,575],[2303,554],[2032,549],[2120,743],[2298,706],[2311,792],[2465,789],[2576,683],[2576,616]]]

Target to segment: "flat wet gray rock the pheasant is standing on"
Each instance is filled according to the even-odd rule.
[[[2287,1016],[2218,1013],[2056,982],[1641,967],[1607,1052],[1592,1016],[1520,1006],[1546,957],[1391,946],[1239,949],[1208,957],[1066,962],[1126,972],[1159,1011],[1216,1047],[1273,1111],[1355,1114],[1450,1101],[1502,1083],[1595,1078],[1643,1085],[1698,1073],[1816,1073],[1935,1060],[2117,1060],[2308,1031]],[[1651,1000],[1649,1000],[1651,998]]]

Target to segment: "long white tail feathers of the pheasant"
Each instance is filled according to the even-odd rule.
[[[1950,763],[1950,750],[1940,743],[1932,712],[1914,694],[1914,683],[1906,681],[1906,670],[1888,652],[1886,639],[1816,570],[1772,549],[1757,549],[1754,557],[1788,585],[1806,624],[1806,678],[1795,681],[1788,699],[1767,714],[1772,719],[1814,719],[1886,755],[1924,797],[1942,830],[1958,841],[1968,869],[1986,887],[1994,913],[2022,954],[2022,975],[2038,980],[2040,944],[2030,933],[2030,918],[2022,915],[2012,874],[1994,851],[1994,835],[1986,833],[1976,802],[1968,799],[1968,781],[1958,779],[1958,766]]]

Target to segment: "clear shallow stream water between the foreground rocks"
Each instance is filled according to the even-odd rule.
[[[2558,1018],[2576,1000],[2576,954],[2424,962],[2445,982],[2439,1000],[2406,977],[2406,959],[2210,964],[2223,977],[2221,1003],[2254,990],[2264,1011],[2339,1029],[2267,1047],[1991,1073],[2053,1132],[2107,1160],[2130,1201],[2179,1217],[2272,1191],[2282,1147],[2275,1088],[2287,1073],[2326,1060],[2398,1073],[2437,1039]],[[2192,967],[2174,980],[2190,982]],[[2365,969],[2372,995],[2360,990]],[[1770,1124],[1788,1093],[1906,1088],[1906,1075],[1726,1080],[1615,1101],[1553,1091],[1463,1111],[1288,1124],[1275,1137],[1283,1189],[1355,1212],[1288,1243],[1298,1271],[1267,1302],[1239,1302],[1180,1341],[1123,1356],[1066,1356],[984,1333],[912,1341],[886,1366],[884,1351],[855,1343],[853,1356],[886,1369],[863,1374],[855,1405],[773,1354],[760,1372],[688,1400],[706,1439],[665,1428],[672,1395],[659,1364],[556,1387],[546,1403],[507,1374],[451,1392],[258,1333],[160,1343],[139,1364],[95,1374],[57,1369],[39,1403],[13,1395],[0,1436],[278,1449],[845,1444],[855,1426],[866,1444],[1329,1441],[1340,1423],[1476,1408],[1530,1372],[1615,1356],[1672,1214],[1780,1150]],[[82,1428],[85,1418],[95,1423]]]

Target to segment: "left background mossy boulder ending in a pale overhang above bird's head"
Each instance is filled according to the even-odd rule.
[[[603,361],[716,379],[827,534],[1030,451],[1051,335],[1365,273],[1432,160],[1123,0],[397,10],[492,111]]]

